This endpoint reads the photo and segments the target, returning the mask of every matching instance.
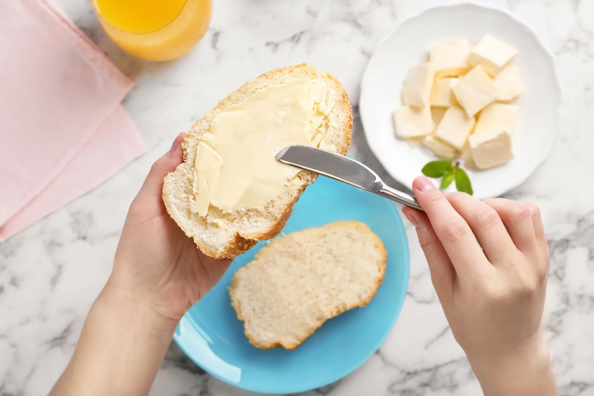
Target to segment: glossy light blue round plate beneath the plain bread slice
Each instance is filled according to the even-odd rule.
[[[396,321],[409,278],[405,229],[391,201],[324,177],[309,186],[283,233],[331,221],[359,220],[380,236],[388,251],[386,275],[374,299],[328,320],[300,347],[261,350],[249,344],[228,288],[235,271],[266,245],[239,256],[223,279],[184,315],[173,339],[211,375],[255,392],[294,393],[337,381],[371,356]]]

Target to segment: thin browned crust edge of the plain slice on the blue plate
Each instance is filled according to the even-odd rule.
[[[330,224],[326,224],[326,226],[323,226],[321,228],[327,228],[327,229],[332,229],[332,228],[339,228],[339,227],[353,227],[356,228],[364,233],[366,233],[371,239],[373,239],[375,241],[375,245],[377,247],[377,249],[381,252],[381,259],[380,259],[380,266],[381,266],[381,275],[378,278],[377,283],[375,284],[374,290],[372,293],[369,294],[368,298],[359,301],[358,303],[355,303],[353,305],[350,306],[345,306],[341,308],[337,308],[336,311],[334,311],[333,313],[331,313],[331,316],[329,316],[328,318],[325,318],[323,320],[320,320],[317,322],[317,324],[311,328],[311,331],[308,332],[308,334],[304,335],[303,337],[299,338],[297,342],[295,343],[285,343],[282,340],[276,340],[273,341],[271,343],[260,343],[258,340],[255,340],[255,338],[251,337],[249,335],[249,331],[248,331],[248,325],[245,323],[244,321],[244,317],[241,315],[241,309],[239,306],[239,301],[235,298],[235,283],[232,281],[231,286],[229,287],[229,296],[231,299],[231,306],[233,307],[233,309],[235,309],[235,313],[237,315],[237,318],[240,321],[244,321],[244,333],[245,333],[245,337],[248,338],[248,341],[250,344],[252,344],[254,347],[259,348],[259,349],[274,349],[277,347],[283,347],[284,349],[287,350],[294,350],[297,347],[299,347],[305,340],[307,340],[307,338],[309,338],[309,336],[311,336],[312,334],[314,334],[314,332],[316,330],[318,330],[318,328],[320,328],[324,322],[326,322],[328,319],[334,318],[335,316],[340,315],[343,312],[349,311],[350,309],[353,308],[362,308],[364,306],[366,306],[369,302],[371,302],[371,300],[375,297],[375,294],[377,294],[377,290],[380,288],[382,281],[384,280],[384,275],[386,275],[386,264],[387,264],[387,251],[386,251],[386,247],[384,246],[384,243],[381,241],[380,237],[378,237],[377,235],[375,235],[374,232],[371,231],[371,229],[369,229],[369,227],[364,224],[361,223],[360,221],[356,221],[356,220],[347,220],[347,221],[336,221],[334,223],[330,223]],[[307,231],[307,230],[312,230],[314,228],[309,228],[309,229],[304,229],[302,231]],[[274,243],[271,242],[271,243]],[[260,251],[261,252],[261,251]],[[258,255],[260,255],[260,252],[258,252],[255,256],[254,259],[258,257]],[[248,263],[249,264],[249,263]]]

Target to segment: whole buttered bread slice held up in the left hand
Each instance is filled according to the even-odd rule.
[[[201,251],[233,258],[278,235],[317,177],[277,162],[276,153],[307,144],[346,154],[351,127],[349,98],[330,74],[308,65],[267,72],[194,123],[163,202]]]

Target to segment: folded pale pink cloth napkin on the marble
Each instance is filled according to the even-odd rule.
[[[45,0],[0,1],[0,241],[146,151],[129,81]]]

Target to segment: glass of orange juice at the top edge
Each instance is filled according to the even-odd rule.
[[[103,30],[126,52],[150,61],[185,55],[204,36],[212,0],[93,0]]]

